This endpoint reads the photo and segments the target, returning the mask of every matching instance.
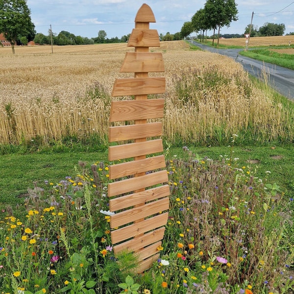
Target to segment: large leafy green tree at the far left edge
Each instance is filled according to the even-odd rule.
[[[34,37],[35,25],[31,21],[26,0],[0,0],[0,32],[10,42],[13,54],[18,39],[22,36],[29,36],[29,39]]]

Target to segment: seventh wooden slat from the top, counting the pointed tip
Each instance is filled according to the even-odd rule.
[[[108,159],[113,161],[157,152],[163,152],[162,139],[111,146],[108,148]]]

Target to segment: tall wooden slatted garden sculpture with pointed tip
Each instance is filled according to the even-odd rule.
[[[109,160],[133,159],[109,166],[109,178],[117,179],[108,185],[111,240],[114,253],[123,249],[139,255],[138,272],[147,270],[158,259],[165,225],[168,220],[170,189],[163,152],[162,123],[148,119],[162,118],[164,99],[150,99],[148,94],[165,92],[165,77],[148,77],[148,72],[164,72],[162,53],[149,52],[160,47],[151,8],[143,4],[135,18],[135,28],[127,46],[121,72],[134,73],[134,78],[116,79],[112,96],[134,96],[132,100],[113,101],[110,122],[133,121],[133,124],[109,127],[109,142],[126,144],[109,147]],[[129,143],[129,141],[132,140]]]

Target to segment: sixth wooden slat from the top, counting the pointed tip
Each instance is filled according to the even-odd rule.
[[[108,141],[125,141],[139,138],[150,138],[162,135],[162,123],[142,123],[111,126],[108,128]]]

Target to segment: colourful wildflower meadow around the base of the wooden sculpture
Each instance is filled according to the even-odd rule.
[[[135,252],[114,256],[108,163],[39,183],[25,214],[1,212],[0,289],[5,294],[289,294],[293,199],[238,159],[167,160],[169,220],[160,259],[143,274]]]

